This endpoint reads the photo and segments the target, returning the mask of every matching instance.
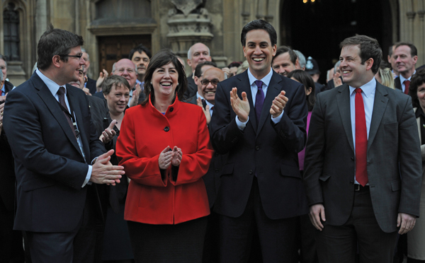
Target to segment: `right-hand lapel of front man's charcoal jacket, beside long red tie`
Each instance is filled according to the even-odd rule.
[[[378,131],[382,116],[384,115],[387,107],[388,98],[387,90],[378,81],[376,82],[375,100],[373,100],[373,112],[372,119],[370,120],[369,137],[368,137],[368,149],[375,139],[376,132]]]

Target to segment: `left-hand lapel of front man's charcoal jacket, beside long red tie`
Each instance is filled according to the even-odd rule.
[[[351,113],[350,113],[350,88],[347,84],[338,87],[339,93],[336,95],[336,104],[338,105],[341,122],[346,132],[348,143],[354,152],[353,131],[351,129]]]

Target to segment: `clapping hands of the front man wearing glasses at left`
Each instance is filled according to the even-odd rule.
[[[109,160],[113,155],[113,150],[103,153],[96,159],[92,166],[90,182],[96,184],[115,185],[120,183],[121,175],[124,175],[124,167],[112,165]]]

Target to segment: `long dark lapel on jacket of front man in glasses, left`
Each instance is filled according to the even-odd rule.
[[[64,134],[67,136],[72,145],[77,149],[77,151],[79,151],[79,153],[81,154],[77,139],[75,139],[75,136],[72,133],[71,128],[69,127],[67,118],[64,116],[64,112],[62,112],[62,109],[55,97],[53,97],[52,93],[50,93],[49,88],[47,88],[46,84],[36,73],[33,74],[31,80],[33,81],[34,87],[38,90],[38,95],[45,103],[47,109],[50,110],[53,117],[55,117],[56,121],[62,128]]]

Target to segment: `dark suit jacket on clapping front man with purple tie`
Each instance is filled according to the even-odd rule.
[[[237,87],[239,98],[243,91],[246,92],[251,108],[249,122],[243,131],[237,127],[236,114],[230,105],[229,92],[233,87]],[[286,91],[288,103],[280,122],[273,124],[270,107],[281,90]],[[252,103],[247,71],[218,83],[210,134],[215,151],[229,153],[215,201],[218,214],[237,217],[243,213],[255,174],[261,204],[268,218],[307,214],[307,197],[297,156],[305,146],[306,120],[304,86],[274,71],[259,120]]]

